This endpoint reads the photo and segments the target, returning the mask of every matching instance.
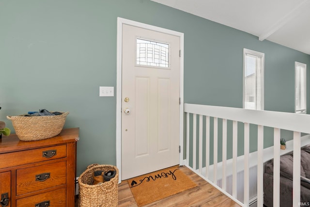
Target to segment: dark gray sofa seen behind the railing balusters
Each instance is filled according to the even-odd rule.
[[[301,148],[300,202],[310,202],[310,145]],[[265,165],[263,175],[264,205],[273,207],[273,160]],[[293,205],[293,152],[280,158],[280,207]]]

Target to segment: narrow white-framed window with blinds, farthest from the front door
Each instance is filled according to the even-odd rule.
[[[295,112],[307,113],[307,65],[295,62]]]

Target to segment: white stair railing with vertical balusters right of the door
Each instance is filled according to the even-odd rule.
[[[300,202],[300,147],[301,147],[301,132],[310,134],[310,115],[296,114],[288,112],[277,111],[256,111],[240,108],[217,107],[197,104],[184,104],[184,111],[186,112],[186,166],[192,169],[195,173],[200,175],[218,190],[233,199],[237,204],[243,207],[248,207],[250,204],[250,168],[257,166],[257,206],[263,207],[263,163],[269,160],[263,149],[263,127],[274,128],[274,143],[280,143],[280,129],[294,131],[294,175],[293,175],[293,204]],[[190,121],[190,114],[192,121]],[[197,119],[199,117],[199,119]],[[203,126],[203,118],[205,117],[205,126]],[[213,118],[213,138],[210,138],[210,125]],[[222,146],[218,146],[218,120],[222,123]],[[198,124],[197,124],[198,120]],[[232,159],[227,159],[227,122],[233,121],[232,143],[233,155]],[[238,122],[243,123],[244,126],[244,155],[237,156],[238,146]],[[257,151],[249,152],[250,132],[249,125],[257,125]],[[190,134],[190,128],[192,134]],[[203,137],[203,128],[206,131]],[[198,132],[198,136],[197,136]],[[198,140],[197,140],[198,138]],[[210,146],[210,139],[213,140],[213,145]],[[191,141],[192,140],[192,141]],[[192,147],[190,148],[190,141]],[[205,142],[204,147],[203,141]],[[240,141],[239,141],[240,142]],[[198,147],[197,147],[198,144]],[[210,147],[213,148],[213,161],[210,161]],[[218,149],[222,149],[222,161],[218,162]],[[206,152],[203,152],[203,148]],[[189,153],[192,152],[190,160]],[[205,154],[205,158],[202,155]],[[273,146],[274,159],[274,191],[273,191],[273,206],[279,207],[279,188],[280,188],[280,144]],[[283,154],[283,153],[282,153]],[[198,162],[196,157],[198,155]],[[205,167],[202,166],[202,160],[205,159]],[[249,161],[251,160],[251,161]],[[254,161],[253,161],[254,160]],[[192,166],[189,166],[189,163]],[[210,165],[210,162],[213,162]],[[198,163],[198,166],[196,166]],[[244,186],[243,186],[243,200],[237,199],[238,193],[238,172],[243,171]],[[232,191],[227,191],[228,176],[232,175]],[[278,175],[278,176],[277,176]],[[221,179],[221,185],[218,185],[218,180]],[[240,196],[239,196],[240,197]]]

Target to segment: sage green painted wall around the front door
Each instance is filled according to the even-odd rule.
[[[307,54],[149,0],[0,0],[0,120],[13,129],[7,115],[70,111],[78,175],[116,164],[116,96],[98,94],[116,89],[118,16],[185,34],[186,103],[242,107],[248,48],[265,53],[265,110],[294,112],[294,62],[310,66]]]

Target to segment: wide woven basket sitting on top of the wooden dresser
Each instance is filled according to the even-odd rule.
[[[19,140],[35,141],[58,135],[68,114],[69,112],[62,112],[54,116],[7,116],[7,118],[12,121]]]

